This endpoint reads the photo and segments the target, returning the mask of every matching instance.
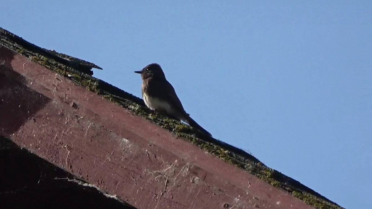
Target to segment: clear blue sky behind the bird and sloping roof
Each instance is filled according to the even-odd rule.
[[[4,1],[0,27],[138,97],[157,62],[215,138],[372,208],[372,1],[123,2]]]

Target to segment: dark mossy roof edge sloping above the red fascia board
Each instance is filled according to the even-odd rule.
[[[199,134],[192,127],[182,122],[158,115],[145,107],[142,99],[93,77],[91,69],[102,68],[91,62],[40,48],[2,28],[0,28],[0,44],[29,58],[33,62],[75,81],[77,84],[89,91],[93,91],[109,102],[124,107],[136,115],[162,128],[168,129],[177,136],[238,168],[246,170],[272,186],[285,190],[308,205],[318,209],[341,209],[336,203],[291,177],[267,167],[247,152],[218,139]]]

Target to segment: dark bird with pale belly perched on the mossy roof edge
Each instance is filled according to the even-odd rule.
[[[176,120],[183,120],[204,134],[212,136],[183,109],[180,99],[178,99],[173,86],[165,78],[160,65],[153,63],[141,71],[134,72],[141,74],[142,98],[149,109]]]

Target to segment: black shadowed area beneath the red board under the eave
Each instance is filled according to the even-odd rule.
[[[0,136],[1,208],[136,209]]]

